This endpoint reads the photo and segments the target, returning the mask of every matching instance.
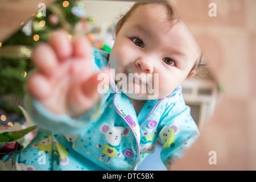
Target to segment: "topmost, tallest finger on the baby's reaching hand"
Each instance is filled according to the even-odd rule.
[[[49,37],[49,44],[56,51],[60,61],[72,56],[72,45],[68,39],[68,33],[64,30],[53,32]]]

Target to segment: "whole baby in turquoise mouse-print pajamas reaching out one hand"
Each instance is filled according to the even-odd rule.
[[[201,51],[184,22],[167,5],[135,3],[110,54],[66,35],[35,48],[26,109],[40,129],[15,168],[134,170],[157,140],[170,168],[199,135],[180,84]]]

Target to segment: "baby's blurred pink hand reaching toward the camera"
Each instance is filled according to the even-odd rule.
[[[91,47],[85,36],[69,41],[67,32],[57,31],[49,43],[39,44],[33,54],[36,70],[27,80],[28,92],[55,114],[78,117],[100,100],[93,71]],[[108,75],[107,70],[102,71]],[[109,84],[109,80],[104,80]]]

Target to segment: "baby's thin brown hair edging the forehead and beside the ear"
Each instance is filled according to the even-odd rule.
[[[179,15],[177,15],[177,13],[174,11],[174,9],[172,9],[172,7],[170,5],[168,5],[168,3],[134,3],[134,5],[131,7],[131,9],[129,11],[127,11],[127,13],[125,15],[122,15],[121,18],[118,20],[116,26],[115,26],[115,35],[118,34],[119,30],[121,30],[123,24],[126,22],[126,20],[130,17],[130,15],[133,13],[133,11],[135,9],[137,9],[139,6],[143,6],[143,5],[162,5],[163,7],[166,8],[167,10],[167,20],[168,22],[172,23],[172,26],[174,26],[177,22],[179,22]],[[193,65],[191,71],[189,72],[188,75],[191,75],[192,72],[196,72],[197,69],[201,66],[203,66],[203,64],[201,64],[201,58],[202,58],[202,53],[200,54],[200,56],[197,58],[196,63]]]

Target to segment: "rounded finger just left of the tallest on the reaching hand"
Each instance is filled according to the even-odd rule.
[[[35,47],[32,57],[39,71],[49,75],[57,66],[57,57],[52,47],[46,43]]]

